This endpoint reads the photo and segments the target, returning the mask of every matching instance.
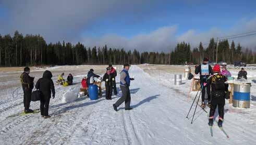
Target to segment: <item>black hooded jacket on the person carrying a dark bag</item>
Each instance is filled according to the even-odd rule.
[[[55,89],[52,77],[52,72],[49,70],[45,70],[43,78],[40,78],[35,85],[35,88],[39,89],[42,92],[43,96],[46,98],[51,97],[51,91],[53,93],[53,96],[55,96]]]

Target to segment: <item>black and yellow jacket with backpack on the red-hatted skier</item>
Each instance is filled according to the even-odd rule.
[[[225,94],[228,91],[227,78],[222,74],[214,74],[206,82],[211,86],[211,104],[225,104]]]

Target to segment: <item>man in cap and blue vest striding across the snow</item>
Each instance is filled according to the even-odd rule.
[[[125,101],[125,110],[131,110],[130,107],[131,103],[131,94],[130,94],[130,81],[134,80],[133,78],[130,78],[129,76],[129,70],[130,65],[124,64],[124,69],[120,73],[120,89],[122,92],[122,96],[116,101],[115,104],[113,104],[114,110],[117,111],[117,107],[120,106]]]

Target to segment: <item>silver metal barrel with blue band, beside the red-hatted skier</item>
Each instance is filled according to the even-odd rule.
[[[233,106],[250,108],[250,92],[250,84],[234,83]]]

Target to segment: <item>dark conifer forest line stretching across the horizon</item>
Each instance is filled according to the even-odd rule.
[[[172,48],[170,48],[172,50]],[[233,63],[246,61],[256,63],[255,53],[243,49],[234,41],[229,46],[227,40],[218,42],[218,61]],[[191,50],[190,44],[178,43],[173,51],[142,52],[136,49],[125,51],[124,48],[86,47],[80,42],[72,45],[70,42],[46,44],[40,35],[23,36],[18,31],[11,37],[0,35],[0,66],[32,66],[32,65],[80,65],[80,64],[184,64],[200,63],[203,57],[216,61],[216,41],[212,38],[208,47],[200,43],[198,48]]]

